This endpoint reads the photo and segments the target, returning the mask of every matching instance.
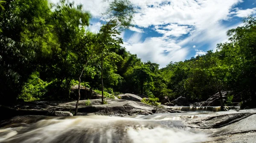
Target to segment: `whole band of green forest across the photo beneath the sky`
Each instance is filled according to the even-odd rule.
[[[241,92],[242,104],[256,106],[256,18],[227,31],[218,51],[164,68],[142,62],[122,47],[119,34],[131,25],[127,0],[109,3],[98,33],[88,30],[90,11],[61,0],[7,0],[0,10],[0,104],[73,100],[79,84],[93,90],[148,97],[205,101],[211,95]],[[212,47],[212,49],[215,47]],[[103,84],[102,84],[103,83]],[[103,91],[101,91],[103,92]]]

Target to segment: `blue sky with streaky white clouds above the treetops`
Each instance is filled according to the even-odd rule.
[[[108,8],[103,0],[74,0],[92,15],[90,31],[98,32]],[[165,67],[216,51],[227,42],[227,30],[243,25],[243,17],[256,16],[256,0],[130,0],[134,27],[122,32],[123,46],[143,62]],[[57,0],[52,0],[57,2]]]

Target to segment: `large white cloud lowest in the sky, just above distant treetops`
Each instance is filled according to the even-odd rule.
[[[163,37],[148,37],[145,41],[138,41],[141,34],[133,34],[123,46],[132,54],[137,54],[143,62],[150,60],[165,67],[169,62],[178,62],[186,58],[187,48],[181,48],[171,39]]]

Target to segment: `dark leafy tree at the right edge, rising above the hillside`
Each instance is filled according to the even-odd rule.
[[[256,101],[256,18],[244,19],[244,25],[227,31],[229,42],[220,43],[217,48],[232,67],[232,89],[242,91],[243,104],[255,107]]]

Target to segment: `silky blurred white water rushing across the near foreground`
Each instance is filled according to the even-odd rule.
[[[160,115],[151,116],[157,119]],[[207,141],[207,136],[169,128],[145,118],[96,115],[0,128],[0,143],[201,143]]]

